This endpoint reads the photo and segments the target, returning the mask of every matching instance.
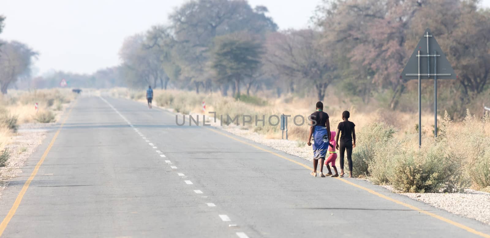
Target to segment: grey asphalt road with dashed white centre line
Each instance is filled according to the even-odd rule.
[[[315,178],[310,162],[139,102],[81,96],[65,119],[4,190],[2,238],[490,237],[481,222]]]

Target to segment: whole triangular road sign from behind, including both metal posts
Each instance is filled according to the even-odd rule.
[[[425,39],[424,39],[425,38]],[[434,48],[434,54],[430,54],[430,48]],[[426,54],[422,54],[422,49],[427,49]],[[438,54],[440,52],[440,54]],[[421,64],[420,58],[427,57],[427,65]],[[438,62],[439,58],[439,62]],[[434,73],[430,73],[431,60],[434,61]],[[439,63],[439,64],[438,64]],[[417,73],[411,73],[416,71]],[[422,72],[427,73],[422,73]],[[439,73],[438,73],[439,71]],[[421,104],[421,79],[430,79],[434,75],[434,135],[437,137],[437,80],[456,79],[453,68],[441,50],[436,39],[430,34],[427,28],[423,37],[418,42],[417,48],[410,57],[403,69],[400,78],[405,80],[418,79],[418,146],[422,146],[422,104]]]

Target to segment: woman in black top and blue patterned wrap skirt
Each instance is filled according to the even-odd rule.
[[[323,112],[323,103],[317,102],[317,111],[310,115],[311,126],[308,136],[308,145],[312,145],[311,138],[313,137],[313,172],[311,175],[317,177],[318,160],[320,160],[320,177],[325,177],[323,174],[323,162],[327,154],[330,141],[330,121],[328,114]]]

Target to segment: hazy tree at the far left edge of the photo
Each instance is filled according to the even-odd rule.
[[[0,91],[7,94],[9,85],[20,77],[30,76],[32,57],[37,52],[17,41],[0,42],[0,45]]]

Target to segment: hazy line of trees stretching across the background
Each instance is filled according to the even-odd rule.
[[[403,95],[414,92],[413,82],[399,74],[427,27],[458,74],[441,86],[458,99],[450,106],[461,109],[488,95],[490,10],[478,0],[323,0],[310,28],[282,31],[265,6],[191,0],[172,12],[169,24],[127,37],[120,66],[92,75],[56,72],[38,83],[52,87],[70,77],[92,87],[151,85],[235,96],[267,90],[319,100],[335,85],[364,103],[384,95],[387,107],[397,109]],[[16,52],[35,56],[26,49]],[[2,65],[5,59],[0,54]],[[25,75],[18,69],[7,77],[3,69],[2,92],[3,81],[12,81],[7,78]]]

